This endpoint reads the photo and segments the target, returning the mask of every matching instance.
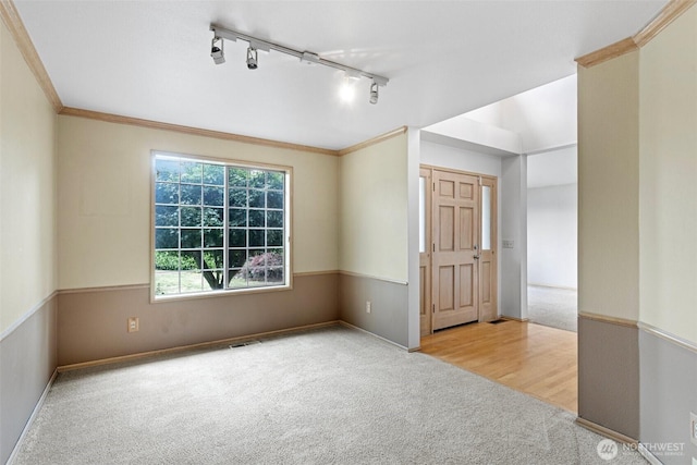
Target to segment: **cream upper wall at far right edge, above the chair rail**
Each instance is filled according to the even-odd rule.
[[[697,343],[697,8],[640,50],[640,319]]]

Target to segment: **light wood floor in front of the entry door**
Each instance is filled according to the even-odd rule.
[[[577,412],[575,332],[505,320],[439,331],[420,345],[425,354]]]

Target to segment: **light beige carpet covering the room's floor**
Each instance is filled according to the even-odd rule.
[[[342,327],[61,374],[15,464],[607,464],[567,412]],[[613,464],[645,463],[623,452]]]

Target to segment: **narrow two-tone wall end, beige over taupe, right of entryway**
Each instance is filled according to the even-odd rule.
[[[639,435],[639,52],[578,69],[578,417]]]

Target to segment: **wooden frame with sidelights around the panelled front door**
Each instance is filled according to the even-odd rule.
[[[491,287],[490,287],[490,294],[491,294],[491,306],[489,311],[482,311],[482,307],[484,307],[484,303],[481,302],[484,298],[484,280],[479,279],[479,292],[478,294],[478,303],[477,303],[477,314],[478,314],[478,319],[477,321],[482,322],[482,321],[490,321],[490,320],[494,320],[497,318],[499,318],[500,316],[500,311],[499,311],[499,281],[500,281],[500,276],[499,276],[499,228],[498,228],[498,223],[499,223],[499,192],[498,192],[498,186],[499,186],[499,179],[497,176],[493,175],[489,175],[489,174],[481,174],[481,173],[476,173],[476,172],[472,172],[472,171],[463,171],[463,170],[455,170],[455,169],[451,169],[451,168],[443,168],[443,167],[436,167],[436,166],[430,166],[430,164],[419,164],[419,178],[426,178],[427,180],[427,199],[426,199],[426,221],[425,221],[425,228],[426,228],[426,252],[427,255],[429,257],[428,260],[428,266],[427,266],[427,270],[426,270],[426,277],[427,277],[427,282],[425,283],[419,283],[419,308],[424,308],[423,306],[426,306],[425,308],[427,310],[430,310],[430,321],[428,325],[428,329],[426,330],[423,326],[419,327],[419,333],[421,336],[427,335],[432,333],[432,328],[433,328],[433,289],[432,289],[432,282],[431,282],[431,277],[430,273],[432,272],[432,254],[431,250],[433,249],[433,240],[432,240],[432,221],[433,221],[433,209],[432,209],[432,193],[433,193],[433,170],[438,170],[438,171],[444,171],[444,172],[450,172],[450,173],[454,173],[454,174],[466,174],[466,175],[472,175],[472,176],[477,176],[479,178],[480,182],[479,182],[479,188],[480,188],[480,194],[481,194],[481,187],[482,186],[489,186],[491,189],[491,210],[490,210],[490,219],[491,219],[491,249],[488,250],[488,253],[491,254],[491,260],[490,262],[492,264],[492,266],[494,267],[492,270],[492,274],[496,277],[496,279],[491,280]],[[479,195],[479,224],[481,225],[481,213],[482,213],[482,208],[481,208],[481,201],[482,201],[482,196]],[[420,208],[420,206],[419,206]],[[419,253],[419,274],[423,272],[421,271],[421,257],[423,255]],[[482,260],[479,260],[479,271],[478,274],[481,274],[481,262]],[[421,292],[426,292],[426,295],[421,296]],[[421,317],[421,313],[419,310],[419,318]]]

